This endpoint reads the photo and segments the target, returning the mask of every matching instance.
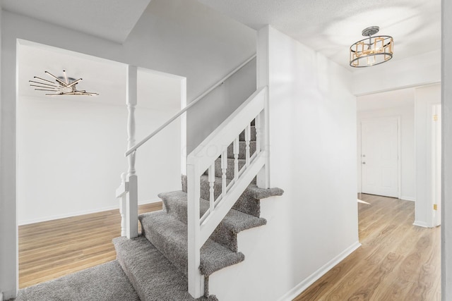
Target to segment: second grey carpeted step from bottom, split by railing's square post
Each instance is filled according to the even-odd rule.
[[[138,217],[148,240],[162,252],[172,264],[186,274],[187,271],[187,226],[165,211],[154,211]],[[209,276],[215,271],[238,264],[244,254],[232,252],[218,242],[208,239],[201,247],[200,271]]]

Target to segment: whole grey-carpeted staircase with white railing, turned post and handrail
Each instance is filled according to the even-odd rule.
[[[227,273],[219,271],[245,259],[239,252],[237,234],[265,225],[266,219],[260,216],[261,199],[283,195],[283,190],[269,188],[268,88],[256,90],[186,156],[182,190],[158,195],[164,209],[141,216],[136,152],[254,57],[138,143],[134,116],[137,68],[129,66],[129,170],[122,174],[117,189],[121,213],[121,237],[113,240],[117,261],[26,288],[19,292],[18,300],[54,300],[54,296],[59,300],[124,300],[121,296],[125,295],[127,300],[141,301],[218,300],[208,291],[209,276],[218,272],[215,283],[220,279],[227,285]],[[55,295],[61,288],[65,291]]]

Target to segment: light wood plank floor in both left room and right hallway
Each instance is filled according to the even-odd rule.
[[[362,247],[295,301],[440,300],[440,228],[412,226],[414,202],[360,195]],[[161,203],[140,212],[162,208]],[[19,227],[19,286],[49,281],[116,258],[118,210]]]

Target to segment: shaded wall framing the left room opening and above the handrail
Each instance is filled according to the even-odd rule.
[[[254,30],[195,0],[151,1],[123,44],[1,11],[0,290],[6,292],[6,298],[15,295],[17,289],[17,235],[13,230],[17,39],[184,76],[189,101],[256,49]]]

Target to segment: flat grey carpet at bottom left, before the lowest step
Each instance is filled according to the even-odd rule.
[[[23,288],[19,290],[16,298],[16,301],[41,300],[139,301],[140,298],[121,269],[119,262],[114,260],[52,281]]]

